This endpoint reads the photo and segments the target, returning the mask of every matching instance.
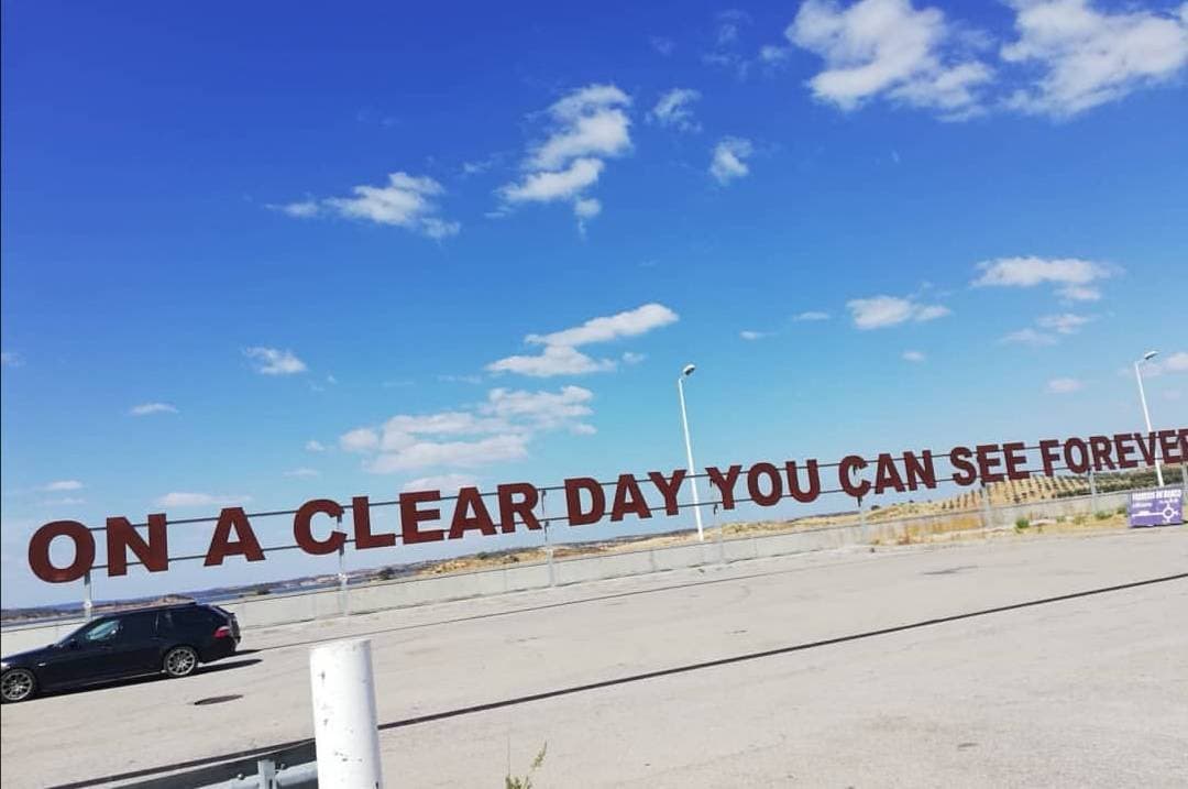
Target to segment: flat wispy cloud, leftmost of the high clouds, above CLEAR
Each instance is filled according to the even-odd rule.
[[[307,198],[282,206],[268,206],[274,210],[298,219],[317,216],[341,216],[377,225],[392,225],[417,231],[432,239],[456,235],[461,225],[442,219],[436,198],[444,188],[428,176],[410,176],[392,172],[381,187],[362,184],[352,188],[349,197]]]

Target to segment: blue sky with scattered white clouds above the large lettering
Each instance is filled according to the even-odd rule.
[[[682,467],[687,361],[702,465],[1140,429],[1149,347],[1184,424],[1188,5],[642,5],[6,2],[5,605],[48,520]]]

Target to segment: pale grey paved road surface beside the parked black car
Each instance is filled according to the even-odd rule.
[[[1186,574],[1188,530],[1151,529],[853,548],[248,631],[258,651],[185,680],[5,706],[4,785],[311,737],[309,648],[367,635],[391,787],[498,787],[544,743],[542,788],[1182,787]],[[195,705],[216,696],[235,698]]]

